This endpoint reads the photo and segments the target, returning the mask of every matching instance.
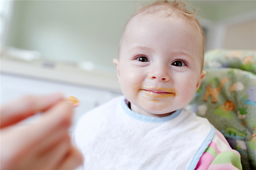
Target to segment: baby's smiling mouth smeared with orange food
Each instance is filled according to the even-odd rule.
[[[175,88],[159,88],[141,86],[140,90],[149,97],[164,98],[178,95]]]

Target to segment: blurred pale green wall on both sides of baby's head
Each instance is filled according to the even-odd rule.
[[[190,1],[213,22],[255,11],[256,1]],[[91,61],[115,71],[123,28],[147,1],[15,1],[7,44],[40,51],[47,60]]]

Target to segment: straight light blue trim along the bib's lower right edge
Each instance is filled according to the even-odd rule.
[[[200,148],[197,150],[197,153],[194,155],[188,170],[194,170],[197,167],[197,163],[199,162],[201,156],[204,154],[204,151],[208,148],[209,144],[213,140],[213,137],[216,134],[216,129],[215,127],[211,124],[211,131],[200,146]]]

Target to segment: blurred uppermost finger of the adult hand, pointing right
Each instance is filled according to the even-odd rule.
[[[61,93],[45,96],[25,96],[1,107],[0,127],[17,123],[39,111],[45,111],[63,99]]]

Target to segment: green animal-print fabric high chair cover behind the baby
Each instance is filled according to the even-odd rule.
[[[209,51],[205,68],[187,108],[223,133],[241,154],[243,169],[256,169],[256,51]]]

